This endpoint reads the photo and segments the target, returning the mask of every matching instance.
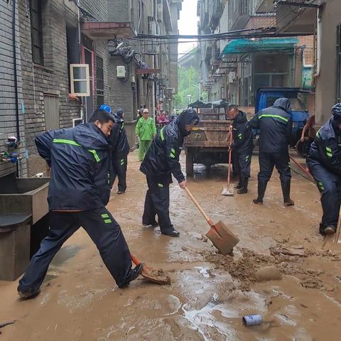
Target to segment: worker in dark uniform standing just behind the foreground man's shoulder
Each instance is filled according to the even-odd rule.
[[[112,108],[107,104],[102,104],[100,109],[112,113]],[[112,167],[114,180],[119,178],[117,194],[126,192],[126,169],[128,166],[128,154],[130,146],[124,128],[124,111],[122,108],[117,109],[114,114],[115,124],[112,134],[109,136],[109,143],[112,146]]]

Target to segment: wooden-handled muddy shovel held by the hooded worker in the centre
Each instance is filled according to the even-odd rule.
[[[206,237],[210,239],[210,241],[220,251],[221,254],[224,256],[226,254],[230,254],[234,246],[239,243],[238,237],[236,237],[221,220],[217,222],[217,224],[213,224],[212,220],[210,220],[205,211],[202,210],[199,202],[197,202],[187,187],[185,188],[185,191],[211,227],[210,231],[207,232]]]

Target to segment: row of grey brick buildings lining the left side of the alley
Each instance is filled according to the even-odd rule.
[[[148,107],[152,114],[156,109],[172,110],[178,40],[157,43],[137,38],[139,34],[177,34],[181,0],[2,3],[0,153],[6,151],[9,136],[20,139],[19,175],[46,171],[35,136],[87,121],[100,104],[124,109],[131,146],[136,142],[137,109]],[[71,93],[71,64],[89,65],[90,95]],[[0,160],[0,176],[16,171],[15,163]]]

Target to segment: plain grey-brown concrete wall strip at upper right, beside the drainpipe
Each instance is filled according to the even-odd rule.
[[[336,43],[337,25],[341,23],[340,0],[329,0],[322,15],[320,76],[316,78],[316,124],[322,125],[330,118],[330,108],[336,99]]]

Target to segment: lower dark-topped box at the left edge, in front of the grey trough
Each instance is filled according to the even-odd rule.
[[[0,281],[15,281],[30,263],[32,215],[0,215]]]

